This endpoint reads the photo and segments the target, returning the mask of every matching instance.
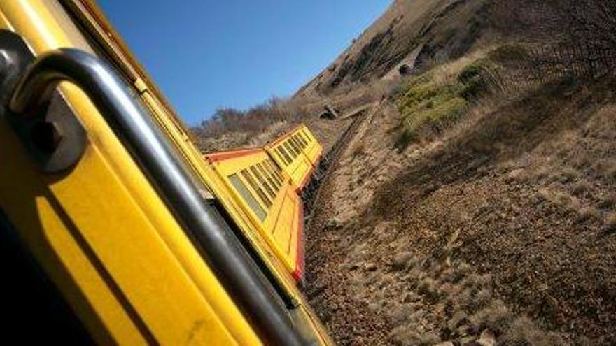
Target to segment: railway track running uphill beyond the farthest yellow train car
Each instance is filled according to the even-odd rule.
[[[312,180],[309,185],[304,190],[302,194],[302,199],[304,201],[304,213],[306,215],[306,223],[308,224],[312,217],[312,210],[315,203],[318,201],[318,197],[321,192],[321,185],[328,177],[329,173],[336,166],[339,155],[342,153],[346,145],[349,143],[349,139],[356,132],[356,129],[359,125],[365,120],[367,114],[370,113],[374,106],[367,107],[360,112],[354,113],[351,117],[354,117],[353,122],[349,124],[349,127],[344,130],[344,133],[337,140],[332,149],[325,154],[323,159],[321,159],[320,164],[316,168]]]

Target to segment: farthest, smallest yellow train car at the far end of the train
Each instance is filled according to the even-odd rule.
[[[307,155],[306,149],[310,142],[304,128],[304,125],[296,127],[265,146],[276,164],[289,175],[297,193],[308,185],[316,164],[313,164]],[[313,138],[311,143],[316,143],[316,139]]]

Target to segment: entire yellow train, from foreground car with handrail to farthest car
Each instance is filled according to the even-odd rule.
[[[322,148],[202,155],[93,1],[0,1],[6,340],[331,345],[297,282]]]

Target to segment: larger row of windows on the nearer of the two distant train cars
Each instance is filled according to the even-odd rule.
[[[273,201],[284,185],[284,178],[279,166],[276,166],[269,158],[241,170],[239,175],[248,182],[248,185],[257,193],[262,205],[267,209],[272,207]],[[253,196],[246,185],[244,185],[244,182],[239,178],[239,175],[235,173],[229,175],[228,178],[255,215],[257,215],[261,221],[265,221],[267,211],[258,203],[255,196]]]

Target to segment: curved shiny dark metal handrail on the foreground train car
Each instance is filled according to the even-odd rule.
[[[265,276],[214,206],[202,199],[194,180],[149,115],[102,60],[75,49],[41,55],[15,87],[11,110],[22,114],[35,110],[50,100],[62,81],[78,85],[90,96],[260,336],[274,345],[302,345]]]

